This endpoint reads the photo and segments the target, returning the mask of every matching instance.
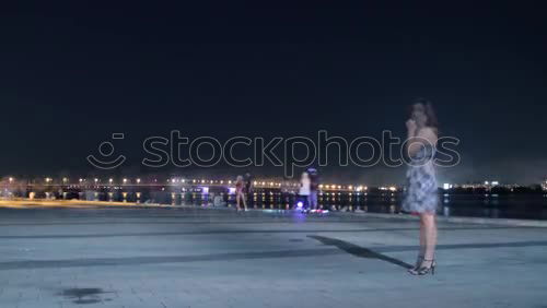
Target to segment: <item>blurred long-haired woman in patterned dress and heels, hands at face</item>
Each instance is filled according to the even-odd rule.
[[[433,166],[438,140],[438,122],[431,103],[417,99],[406,122],[407,153],[410,157],[406,179],[407,190],[403,210],[420,217],[420,251],[416,265],[408,270],[412,275],[434,274],[437,262],[437,208],[439,191]]]

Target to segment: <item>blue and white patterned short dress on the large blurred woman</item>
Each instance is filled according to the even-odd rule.
[[[422,146],[407,170],[407,190],[403,210],[411,213],[435,213],[439,205],[439,191],[433,166],[434,146]]]

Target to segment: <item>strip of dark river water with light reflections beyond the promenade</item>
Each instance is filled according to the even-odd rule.
[[[364,211],[374,213],[400,212],[400,192],[338,192],[318,196],[323,209]],[[449,194],[440,193],[439,215],[494,218],[547,220],[547,194]],[[127,201],[161,204],[193,204],[202,206],[234,206],[235,197],[224,190],[190,191],[82,191],[63,193],[62,199]],[[298,196],[275,189],[257,189],[248,200],[249,208],[288,210],[299,201]]]

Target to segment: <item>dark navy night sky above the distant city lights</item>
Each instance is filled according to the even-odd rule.
[[[148,170],[140,142],[173,129],[403,137],[417,96],[462,141],[461,165],[441,181],[547,175],[547,21],[534,2],[42,2],[0,11],[1,175],[92,174],[85,156],[113,132],[126,133],[116,151],[128,156],[116,173],[236,174]],[[370,183],[400,182],[403,171],[323,170]]]

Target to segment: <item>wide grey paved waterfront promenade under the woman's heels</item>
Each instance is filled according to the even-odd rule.
[[[196,208],[0,208],[0,307],[547,307],[547,228]]]

